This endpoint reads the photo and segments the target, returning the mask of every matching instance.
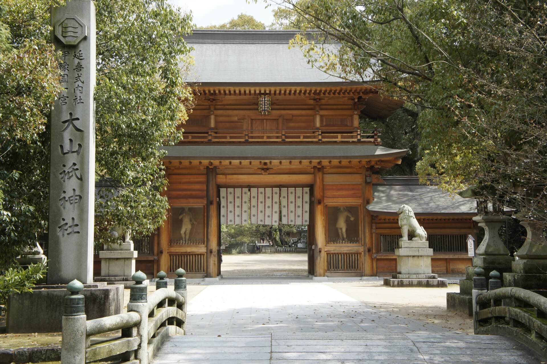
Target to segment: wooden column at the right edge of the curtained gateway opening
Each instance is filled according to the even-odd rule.
[[[315,240],[315,277],[325,277],[327,273],[327,253],[325,253],[325,190],[323,168],[313,167],[313,236]]]

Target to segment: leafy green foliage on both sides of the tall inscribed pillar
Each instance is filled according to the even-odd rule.
[[[0,17],[0,268],[47,231],[49,108],[60,90],[51,0],[5,0]],[[57,3],[57,2],[55,2]],[[162,224],[167,180],[158,148],[181,138],[191,93],[183,37],[191,16],[166,0],[97,0],[96,242],[115,224],[137,234]],[[181,66],[182,65],[182,66]]]

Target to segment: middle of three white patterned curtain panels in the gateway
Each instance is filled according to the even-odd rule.
[[[251,189],[251,224],[279,224],[279,189]]]

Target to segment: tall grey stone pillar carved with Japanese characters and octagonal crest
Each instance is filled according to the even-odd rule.
[[[65,88],[51,110],[48,283],[93,281],[95,5],[51,8]]]

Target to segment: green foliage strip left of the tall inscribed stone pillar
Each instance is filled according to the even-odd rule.
[[[49,2],[0,7],[0,271],[47,228],[50,106],[61,91]]]

